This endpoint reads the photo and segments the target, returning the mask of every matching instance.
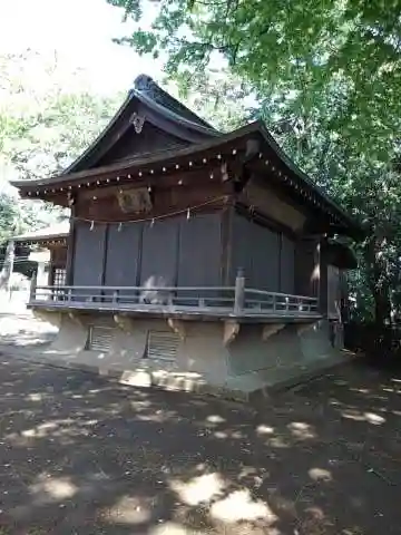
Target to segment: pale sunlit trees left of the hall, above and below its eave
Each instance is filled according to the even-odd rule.
[[[66,76],[55,56],[32,50],[0,55],[0,279],[6,284],[7,241],[68,216],[50,204],[20,200],[8,179],[43,178],[67,167],[105,127],[123,98],[92,95],[79,81],[79,72]],[[20,268],[16,259],[16,269]]]

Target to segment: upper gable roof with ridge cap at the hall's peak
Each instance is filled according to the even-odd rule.
[[[95,167],[133,125],[133,115],[137,113],[138,105],[146,121],[182,139],[185,145],[202,143],[221,135],[206,120],[162,89],[149,76],[139,75],[108,126],[62,175]]]

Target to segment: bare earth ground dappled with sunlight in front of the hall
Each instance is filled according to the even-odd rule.
[[[50,335],[7,321],[3,343]],[[3,347],[0,535],[399,534],[400,422],[401,373],[362,364],[255,412]]]

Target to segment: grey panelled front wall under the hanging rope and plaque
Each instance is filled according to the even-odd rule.
[[[75,285],[219,285],[222,214],[76,226]]]

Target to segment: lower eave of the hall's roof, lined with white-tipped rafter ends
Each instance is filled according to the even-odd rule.
[[[67,201],[80,188],[96,189],[108,186],[133,184],[163,175],[195,169],[202,166],[237,160],[244,164],[244,156],[250,140],[258,142],[258,167],[264,174],[274,178],[285,192],[299,203],[312,211],[322,213],[331,221],[335,232],[349,234],[360,240],[363,232],[358,222],[346,214],[312,179],[303,173],[281,149],[262,121],[255,121],[235,132],[218,136],[184,149],[166,150],[151,157],[139,157],[127,162],[97,167],[94,169],[59,175],[39,181],[12,182],[25,197],[53,200],[55,196]],[[241,158],[243,158],[241,160]],[[252,163],[255,165],[255,163]],[[251,166],[251,163],[250,163]],[[59,204],[62,204],[61,202]],[[67,202],[65,203],[67,204]]]

